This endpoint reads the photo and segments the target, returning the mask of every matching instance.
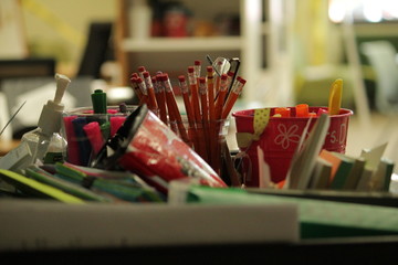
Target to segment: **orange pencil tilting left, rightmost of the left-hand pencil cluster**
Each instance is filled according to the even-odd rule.
[[[161,81],[166,91],[166,103],[169,110],[168,113],[169,115],[171,114],[174,119],[176,120],[181,139],[189,145],[190,141],[182,123],[181,114],[177,106],[176,97],[168,74],[161,74]]]

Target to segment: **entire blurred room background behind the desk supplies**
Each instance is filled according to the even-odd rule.
[[[76,84],[70,106],[98,87],[111,103],[134,103],[138,66],[176,82],[195,60],[209,65],[206,55],[239,57],[248,83],[235,108],[325,106],[343,78],[349,151],[389,139],[397,159],[397,20],[395,0],[1,0],[2,119],[22,100],[8,98],[11,78],[65,74]]]

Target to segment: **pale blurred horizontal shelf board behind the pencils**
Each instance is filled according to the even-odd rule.
[[[240,36],[125,39],[125,52],[235,51],[242,47]]]

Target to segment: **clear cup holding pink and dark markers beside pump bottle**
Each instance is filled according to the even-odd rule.
[[[107,106],[104,114],[95,114],[92,107],[65,110],[61,134],[67,141],[65,161],[90,166],[105,141],[122,126],[137,106]]]

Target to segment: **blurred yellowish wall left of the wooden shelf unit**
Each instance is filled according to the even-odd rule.
[[[19,0],[31,56],[51,56],[74,75],[93,21],[114,21],[116,0]]]

